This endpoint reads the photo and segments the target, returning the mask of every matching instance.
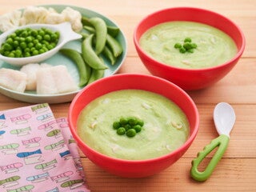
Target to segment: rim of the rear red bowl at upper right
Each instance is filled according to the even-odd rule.
[[[141,38],[137,38],[137,31],[138,31],[138,28],[142,25],[142,22],[145,22],[146,19],[150,18],[151,16],[154,16],[154,15],[157,15],[157,14],[161,14],[162,12],[166,12],[166,11],[170,11],[170,10],[197,10],[197,11],[203,11],[203,12],[207,12],[208,14],[214,14],[220,18],[223,18],[225,19],[226,21],[230,22],[230,24],[232,24],[237,30],[238,30],[238,33],[240,34],[241,36],[241,39],[242,39],[242,43],[241,43],[241,47],[238,48],[238,52],[237,54],[234,55],[233,58],[231,58],[230,60],[226,61],[226,62],[223,62],[222,64],[220,65],[217,65],[217,66],[210,66],[210,67],[206,67],[206,68],[196,68],[196,69],[190,69],[190,68],[182,68],[182,67],[178,67],[178,66],[170,66],[170,65],[167,65],[163,62],[159,62],[157,61],[156,59],[154,59],[153,57],[151,57],[149,54],[146,54],[146,51],[144,51],[141,46],[139,45],[139,39]],[[182,20],[181,20],[182,21]],[[185,21],[185,20],[183,20]],[[186,21],[189,21],[189,20],[186,20]],[[162,22],[159,22],[158,24],[160,24]],[[206,24],[206,25],[209,25],[209,24]],[[210,25],[209,25],[210,26]],[[215,27],[215,26],[214,26]],[[218,29],[218,27],[215,27]],[[148,29],[147,29],[148,30]],[[220,30],[220,29],[218,29]],[[223,31],[223,30],[222,30]],[[224,31],[223,31],[224,32]],[[145,33],[145,32],[144,32]],[[226,32],[224,32],[226,34]],[[229,35],[229,34],[228,34]],[[230,36],[230,35],[229,35]],[[230,37],[231,38],[231,37]],[[232,38],[233,39],[233,38]],[[138,22],[137,26],[135,27],[134,29],[134,36],[133,36],[133,40],[134,40],[134,45],[135,45],[135,48],[138,49],[142,54],[143,54],[143,57],[145,57],[147,60],[150,60],[151,63],[150,65],[154,65],[154,66],[161,66],[163,67],[164,69],[174,69],[174,70],[183,70],[183,71],[186,71],[186,72],[194,72],[194,71],[210,71],[210,70],[218,70],[224,66],[227,66],[229,65],[230,63],[236,61],[238,58],[240,58],[242,56],[242,53],[243,51],[245,50],[245,46],[246,46],[246,38],[245,38],[245,35],[243,34],[242,32],[242,29],[235,23],[233,22],[230,18],[227,18],[226,16],[222,15],[222,14],[218,14],[217,12],[214,12],[212,10],[206,10],[206,9],[202,9],[202,8],[198,8],[198,7],[192,7],[192,6],[177,6],[177,7],[169,7],[169,8],[165,8],[165,9],[162,9],[162,10],[157,10],[157,11],[154,11],[153,13],[150,13],[148,15],[146,15],[146,17],[142,18],[142,20],[140,22]],[[234,40],[234,39],[233,39]]]

